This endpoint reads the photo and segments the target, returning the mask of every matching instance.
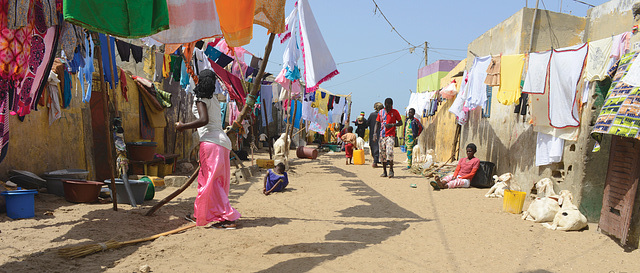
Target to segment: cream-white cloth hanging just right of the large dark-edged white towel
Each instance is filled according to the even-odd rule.
[[[607,77],[607,69],[610,64],[611,47],[613,38],[604,38],[589,43],[587,54],[587,66],[585,66],[587,81],[601,81]]]

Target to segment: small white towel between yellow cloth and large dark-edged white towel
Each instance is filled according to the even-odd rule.
[[[524,78],[522,93],[543,94],[547,78],[547,67],[551,50],[545,52],[533,52],[529,54],[529,65]]]

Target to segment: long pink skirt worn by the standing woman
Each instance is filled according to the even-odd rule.
[[[240,218],[240,213],[229,203],[230,182],[229,150],[211,142],[200,142],[198,195],[193,204],[198,226]]]

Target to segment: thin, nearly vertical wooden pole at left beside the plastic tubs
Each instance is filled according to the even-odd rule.
[[[94,41],[100,41],[97,33],[93,33]],[[109,39],[107,38],[107,45],[109,44]],[[96,54],[98,55],[98,73],[100,73],[100,84],[102,86],[102,100],[104,101],[104,124],[105,131],[107,132],[107,161],[109,161],[109,170],[111,173],[111,183],[109,183],[109,188],[111,189],[111,200],[113,201],[113,210],[118,210],[118,197],[116,195],[116,179],[115,179],[115,167],[114,167],[114,159],[113,159],[113,141],[111,140],[111,124],[109,124],[110,115],[109,115],[109,96],[107,94],[107,83],[104,81],[104,71],[102,68],[102,50],[100,46],[96,47]],[[111,60],[111,56],[109,56],[109,60]]]

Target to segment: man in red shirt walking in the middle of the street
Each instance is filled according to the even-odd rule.
[[[381,127],[382,126],[382,127]],[[379,139],[378,147],[380,149],[380,162],[382,162],[382,177],[393,177],[393,147],[396,145],[396,127],[402,126],[402,117],[398,110],[393,109],[393,99],[384,100],[384,109],[378,112],[376,119],[376,129],[380,130],[380,136],[375,135],[373,141]],[[389,165],[389,174],[387,175],[387,165]]]

